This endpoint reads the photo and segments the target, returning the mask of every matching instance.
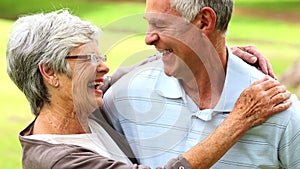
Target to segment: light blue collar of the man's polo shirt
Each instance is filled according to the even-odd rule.
[[[221,97],[214,109],[214,112],[230,112],[242,91],[249,87],[253,79],[251,72],[257,71],[256,68],[248,65],[239,57],[235,56],[227,48],[228,62],[226,69],[225,84]],[[263,77],[263,75],[261,76]],[[178,79],[167,76],[164,71],[159,75],[155,85],[155,91],[166,98],[183,99],[186,103],[185,92]]]

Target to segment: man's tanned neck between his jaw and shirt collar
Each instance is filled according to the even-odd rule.
[[[208,56],[209,61],[206,63],[201,60],[201,64],[194,64],[196,66],[190,67],[194,78],[182,80],[185,92],[200,109],[211,109],[216,106],[222,94],[226,76],[227,50],[225,38],[221,41],[211,41],[216,49],[215,59]]]

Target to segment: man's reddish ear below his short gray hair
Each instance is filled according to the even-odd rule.
[[[216,22],[215,11],[210,7],[203,7],[192,23],[207,35],[215,30]]]

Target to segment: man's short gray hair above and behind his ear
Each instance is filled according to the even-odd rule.
[[[233,0],[171,0],[171,5],[188,22],[192,22],[203,7],[212,8],[217,15],[216,29],[225,33],[234,2]]]

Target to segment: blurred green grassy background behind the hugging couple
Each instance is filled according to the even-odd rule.
[[[236,0],[235,3],[229,45],[256,45],[280,77],[300,57],[300,1]],[[113,72],[120,64],[135,62],[154,52],[143,42],[146,23],[136,21],[142,16],[144,5],[144,0],[0,0],[1,169],[22,168],[18,132],[34,118],[25,97],[6,74],[5,46],[13,21],[25,14],[70,9],[103,28],[100,45],[109,56],[108,64]]]

